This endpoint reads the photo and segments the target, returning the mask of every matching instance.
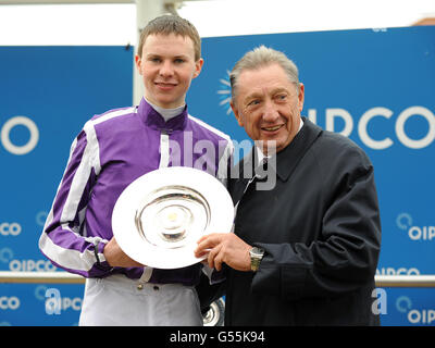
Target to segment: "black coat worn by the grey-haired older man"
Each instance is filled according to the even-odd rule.
[[[373,166],[348,138],[303,121],[268,169],[274,189],[256,189],[257,178],[246,189],[252,156],[231,179],[235,233],[265,254],[257,273],[227,269],[225,325],[378,324]]]

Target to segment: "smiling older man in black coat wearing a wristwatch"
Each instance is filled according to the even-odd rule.
[[[231,83],[234,114],[256,146],[231,181],[235,233],[204,236],[196,251],[227,265],[225,324],[377,325],[381,224],[369,158],[301,117],[304,87],[282,52],[248,52]],[[264,172],[275,185],[259,189]]]

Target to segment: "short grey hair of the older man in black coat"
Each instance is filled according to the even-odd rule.
[[[235,102],[236,99],[237,80],[243,71],[257,70],[274,63],[279,64],[279,66],[283,67],[290,83],[294,83],[296,85],[296,90],[299,95],[299,72],[296,64],[283,52],[276,51],[262,45],[254,48],[252,51],[247,52],[236,63],[236,65],[234,65],[229,74],[233,102]]]

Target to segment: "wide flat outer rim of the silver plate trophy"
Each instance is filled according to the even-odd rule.
[[[185,243],[167,248],[150,243],[137,225],[137,211],[144,209],[149,197],[152,200],[152,194],[164,188],[187,188],[198,195],[209,210],[202,232],[197,231],[187,236]],[[210,233],[229,233],[233,220],[233,200],[219,179],[197,169],[169,166],[139,176],[122,191],[113,209],[112,231],[121,249],[133,260],[154,269],[178,269],[206,259],[206,256],[195,257],[198,239]]]

